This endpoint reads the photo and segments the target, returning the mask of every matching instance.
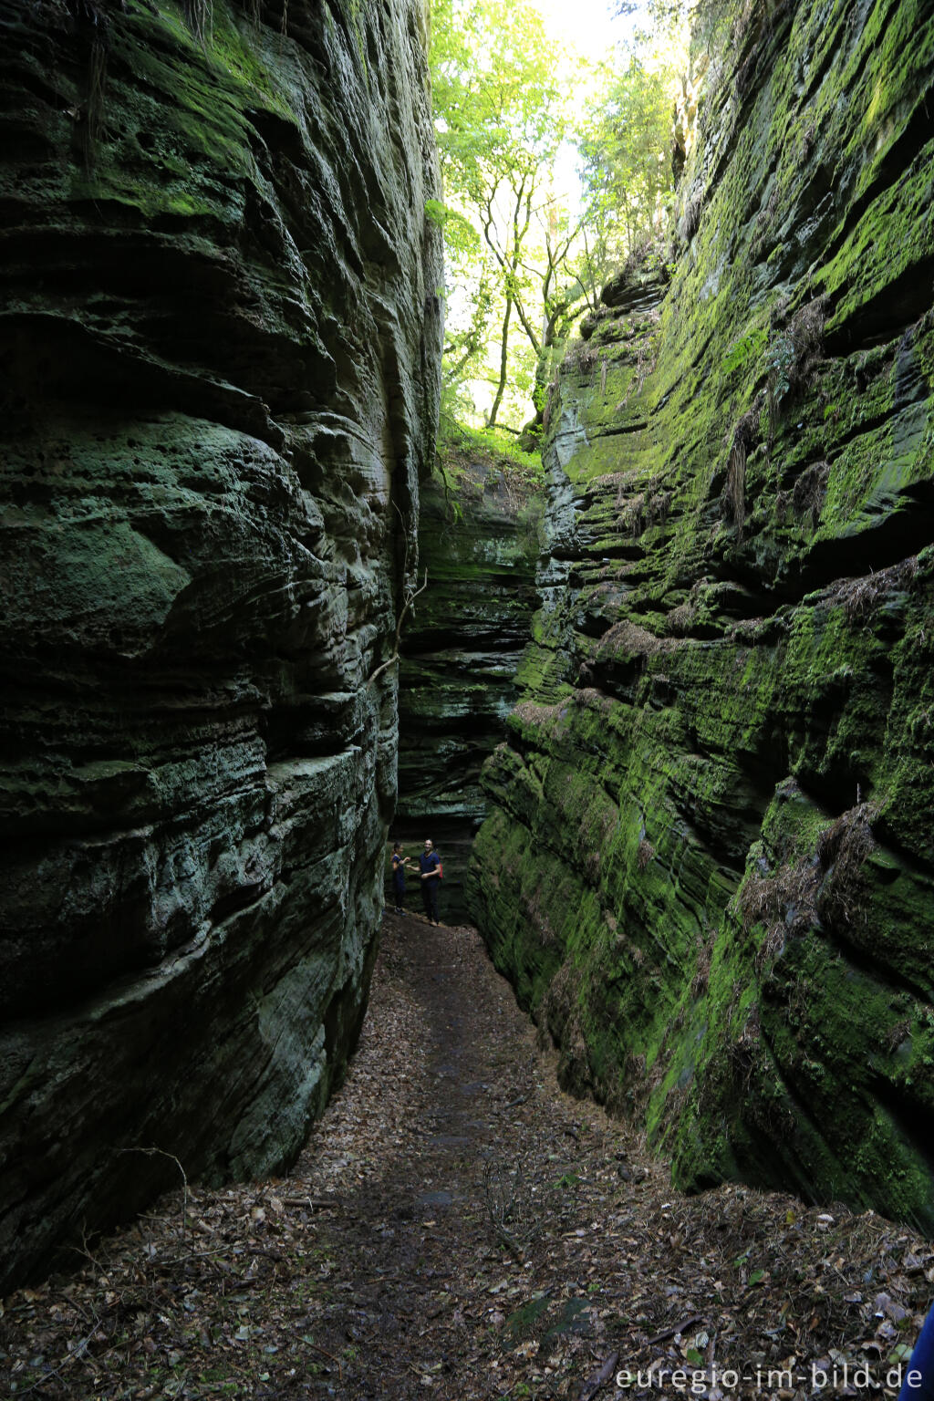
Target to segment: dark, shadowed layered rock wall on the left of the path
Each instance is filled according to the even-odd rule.
[[[202,28],[200,34],[192,34]],[[351,1047],[440,353],[421,0],[0,3],[0,1288]]]

